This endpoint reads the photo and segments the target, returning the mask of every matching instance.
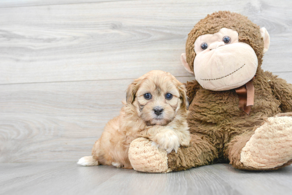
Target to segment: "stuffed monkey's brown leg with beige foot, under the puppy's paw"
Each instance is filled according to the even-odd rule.
[[[151,146],[146,138],[137,138],[129,148],[129,159],[136,171],[170,172],[189,169],[212,163],[218,157],[217,149],[201,134],[191,134],[189,147],[181,147],[177,153],[167,154],[162,149]]]

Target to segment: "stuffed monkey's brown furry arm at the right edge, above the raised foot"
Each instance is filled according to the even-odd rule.
[[[275,75],[272,75],[269,83],[274,95],[281,101],[282,112],[292,112],[292,85]]]

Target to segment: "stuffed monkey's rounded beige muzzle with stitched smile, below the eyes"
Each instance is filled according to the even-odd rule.
[[[194,60],[194,73],[203,88],[224,91],[250,81],[257,65],[257,55],[251,46],[237,42],[199,53]]]

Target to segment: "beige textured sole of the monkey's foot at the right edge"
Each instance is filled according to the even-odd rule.
[[[242,148],[240,162],[254,169],[278,169],[292,163],[292,113],[269,117]]]

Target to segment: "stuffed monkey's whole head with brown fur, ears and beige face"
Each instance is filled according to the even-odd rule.
[[[207,15],[191,30],[181,62],[203,88],[224,91],[254,77],[269,45],[264,27],[241,14],[219,11]]]

